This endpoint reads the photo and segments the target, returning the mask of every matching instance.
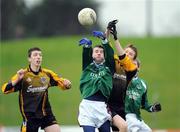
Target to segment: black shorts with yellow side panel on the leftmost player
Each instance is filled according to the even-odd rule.
[[[45,116],[43,118],[32,118],[28,121],[23,121],[21,132],[38,132],[39,127],[44,129],[53,124],[57,124],[56,118],[53,115]]]

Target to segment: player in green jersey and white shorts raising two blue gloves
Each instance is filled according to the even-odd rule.
[[[112,90],[114,73],[114,51],[102,32],[94,31],[95,37],[102,39],[102,45],[92,48],[91,40],[83,38],[82,74],[78,121],[84,132],[110,132],[111,115],[107,101]]]

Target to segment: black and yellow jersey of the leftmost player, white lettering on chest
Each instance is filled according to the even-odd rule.
[[[59,86],[63,90],[66,89],[63,84],[64,78],[48,69],[41,68],[36,73],[29,67],[24,70],[22,80],[12,86],[11,82],[18,77],[17,74],[14,75],[9,83],[2,86],[2,92],[8,94],[19,91],[19,106],[24,120],[52,114],[48,100],[48,88]]]

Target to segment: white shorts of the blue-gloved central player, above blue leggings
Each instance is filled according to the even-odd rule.
[[[107,120],[111,120],[105,102],[83,99],[79,105],[78,122],[80,126],[101,127]]]

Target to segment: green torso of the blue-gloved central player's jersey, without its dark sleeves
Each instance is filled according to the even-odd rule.
[[[101,65],[96,67],[91,63],[83,72],[80,80],[82,97],[89,97],[99,90],[109,98],[112,90],[112,75],[108,67]]]

